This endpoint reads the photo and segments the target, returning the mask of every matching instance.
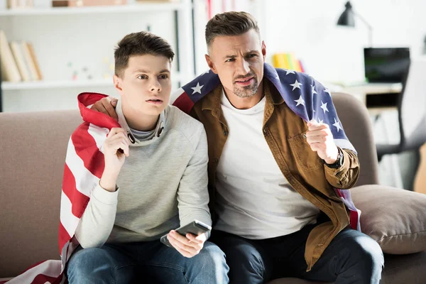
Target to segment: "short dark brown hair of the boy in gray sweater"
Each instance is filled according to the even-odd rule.
[[[163,55],[173,61],[173,49],[164,38],[148,31],[129,33],[122,38],[114,50],[115,75],[122,77],[129,64],[129,58],[134,55]]]

